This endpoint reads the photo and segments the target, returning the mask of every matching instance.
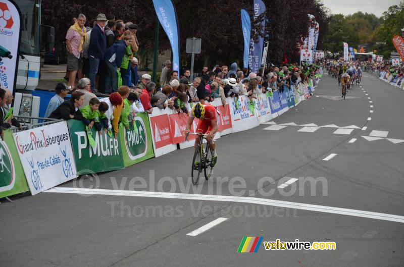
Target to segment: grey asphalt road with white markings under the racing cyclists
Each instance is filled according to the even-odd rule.
[[[402,266],[404,91],[364,75],[345,100],[325,75],[272,125],[218,139],[198,187],[188,148],[2,203],[2,265]],[[336,249],[237,253],[244,236]]]

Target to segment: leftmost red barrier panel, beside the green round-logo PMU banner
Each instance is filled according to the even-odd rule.
[[[150,128],[156,142],[156,148],[161,148],[173,143],[170,131],[170,121],[167,114],[150,118]]]

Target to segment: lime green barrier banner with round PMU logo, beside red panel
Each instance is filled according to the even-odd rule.
[[[155,156],[147,114],[138,113],[134,123],[136,129],[132,124],[129,124],[129,130],[119,129],[125,167]]]

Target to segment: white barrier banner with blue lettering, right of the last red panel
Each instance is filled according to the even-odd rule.
[[[241,95],[238,99],[231,97],[227,98],[227,100],[230,106],[233,133],[248,130],[260,125],[257,117],[249,110],[249,98],[247,96]]]

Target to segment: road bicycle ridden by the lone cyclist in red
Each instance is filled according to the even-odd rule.
[[[189,133],[189,134],[198,135],[201,137],[199,138],[199,143],[195,147],[191,167],[192,184],[197,185],[202,170],[204,170],[206,180],[208,180],[211,177],[213,170],[213,164],[212,164],[213,155],[208,142],[206,143],[206,148],[204,149],[204,138],[208,136],[207,134],[201,134],[201,133]]]

